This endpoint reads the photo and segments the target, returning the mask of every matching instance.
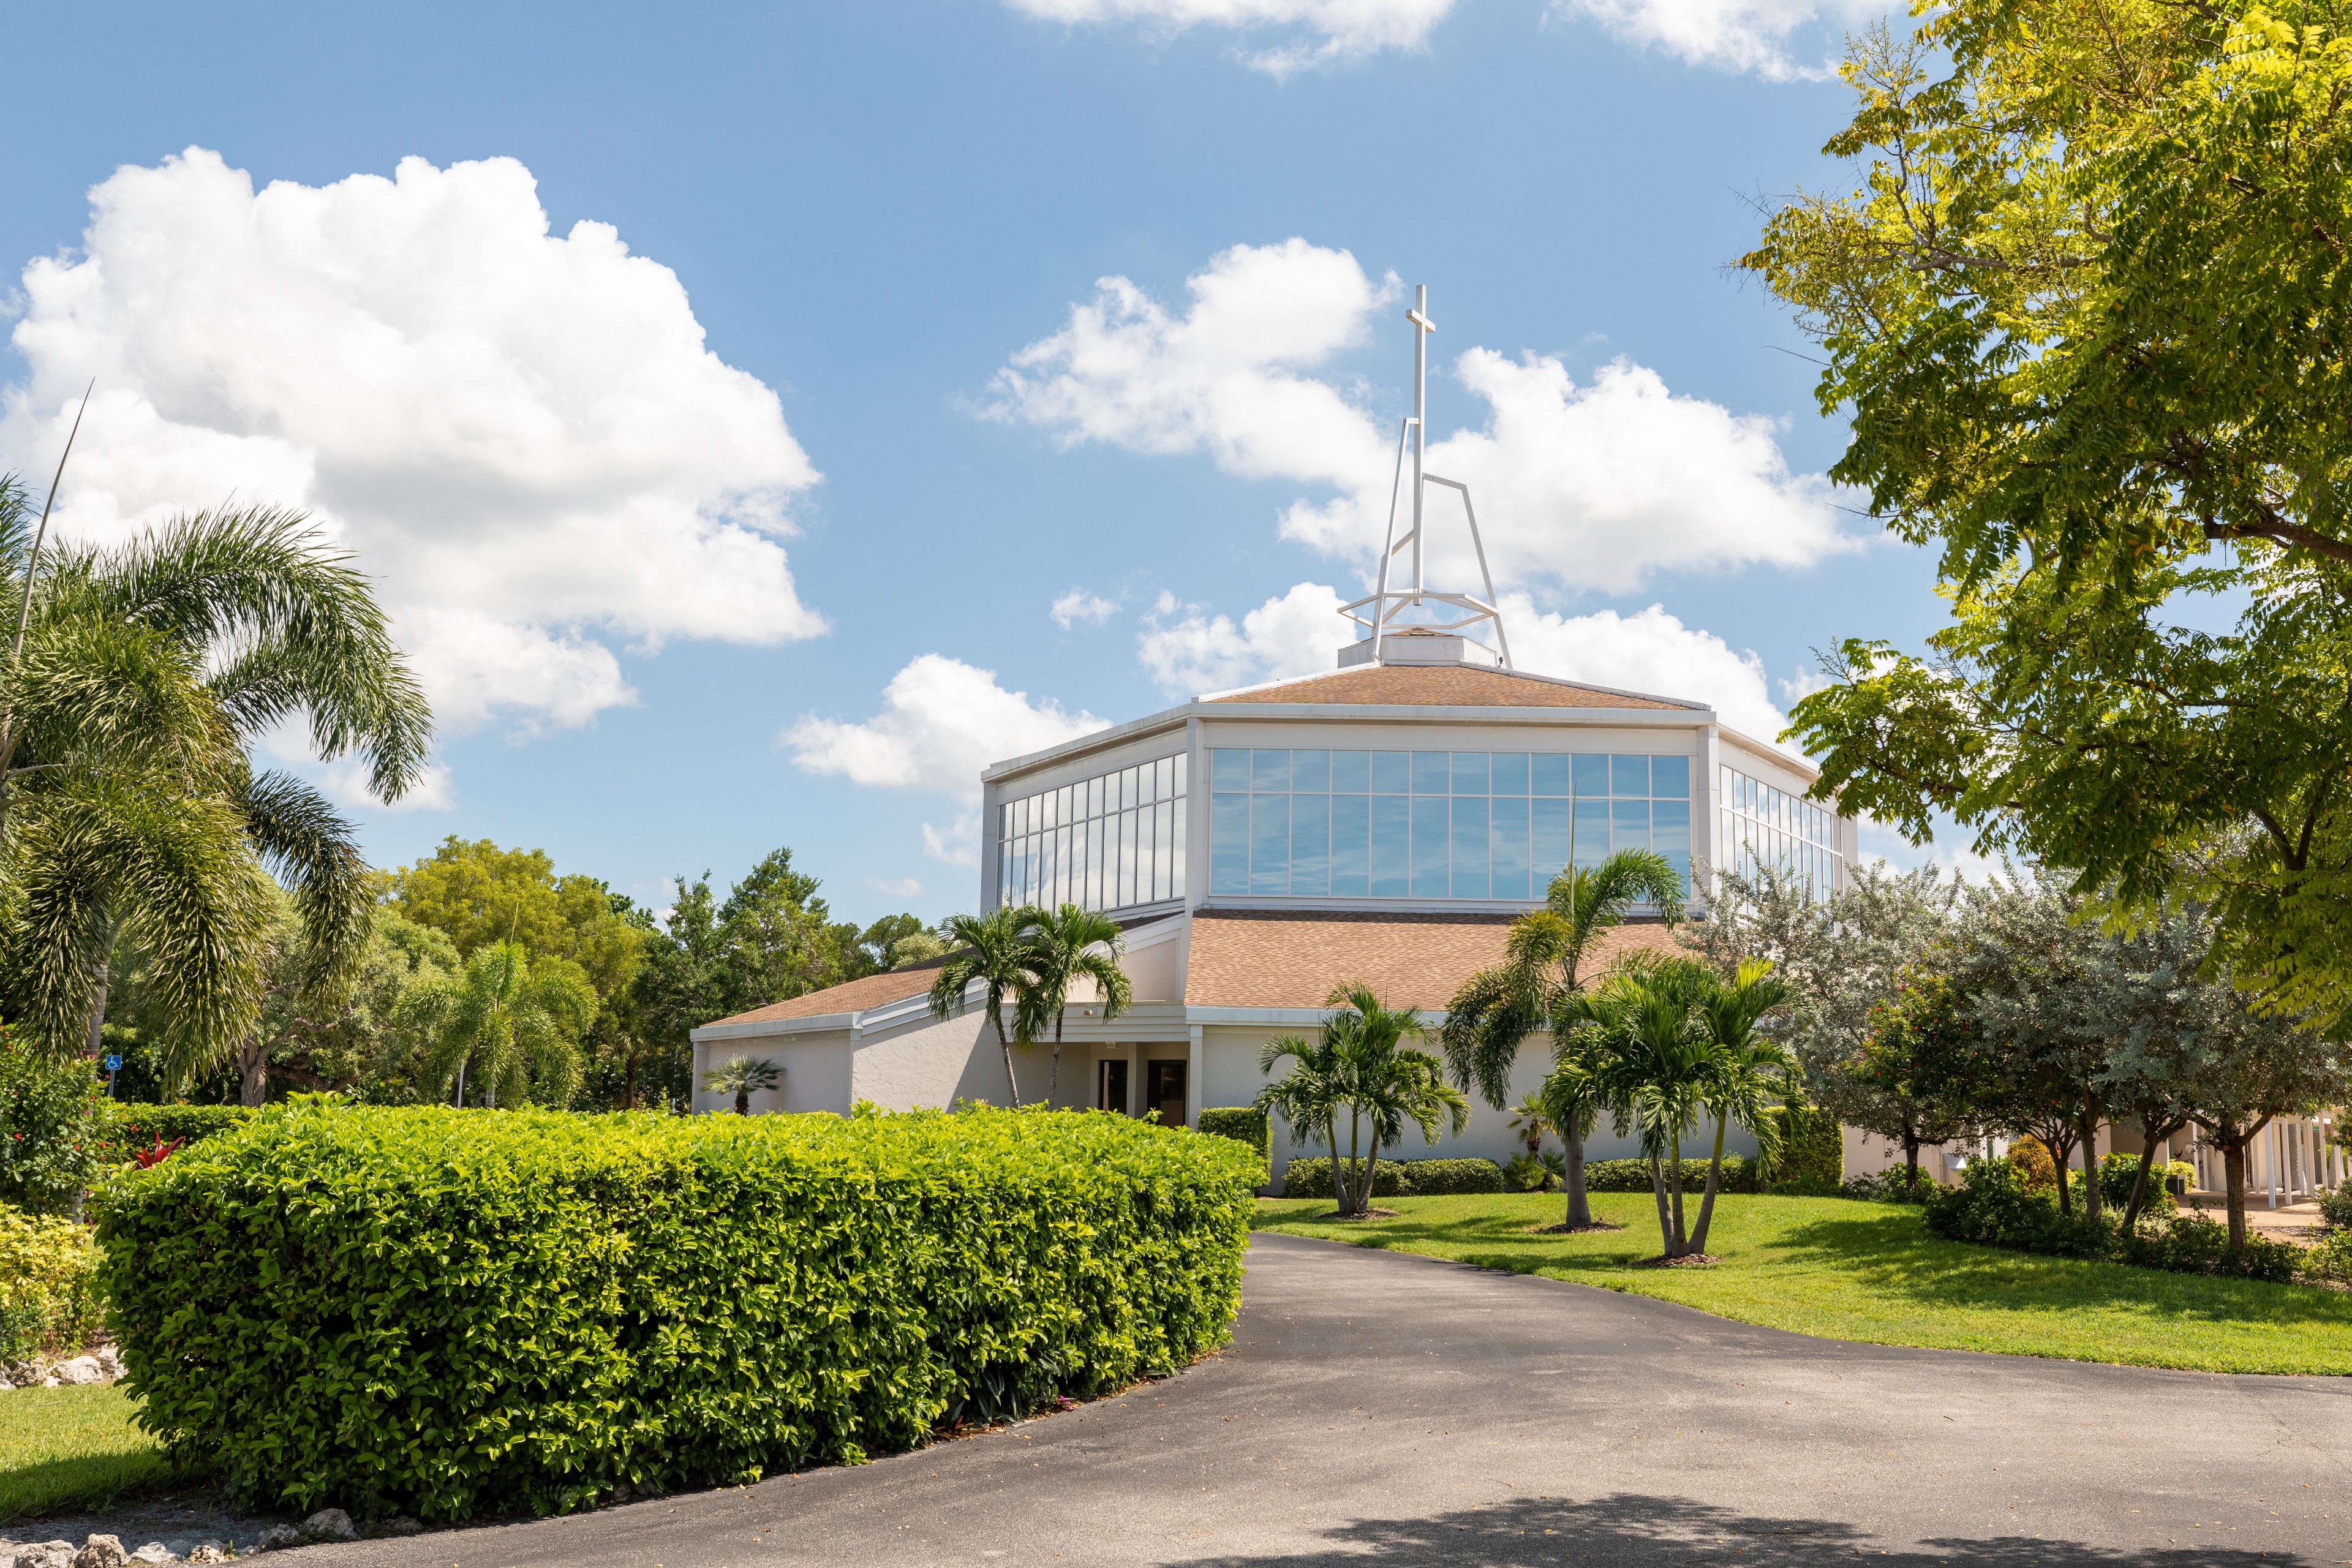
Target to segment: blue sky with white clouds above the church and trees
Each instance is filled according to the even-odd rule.
[[[1329,661],[1425,282],[1522,663],[1755,729],[1809,649],[1940,618],[1726,266],[1844,179],[1818,73],[1865,19],[52,7],[0,458],[99,376],[71,529],[233,494],[360,550],[442,712],[428,797],[358,806],[379,863],[459,832],[659,903],[790,844],[936,917],[997,736]]]

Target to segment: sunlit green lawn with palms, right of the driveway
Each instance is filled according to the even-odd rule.
[[[1658,1253],[1651,1197],[1602,1192],[1623,1232],[1538,1237],[1557,1194],[1378,1199],[1395,1220],[1319,1220],[1331,1199],[1258,1199],[1256,1229],[1548,1274],[1828,1340],[2209,1373],[2352,1373],[2352,1293],[2159,1274],[1938,1241],[1917,1208],[1722,1197],[1712,1267],[1639,1269]],[[1696,1215],[1693,1215],[1696,1218]]]

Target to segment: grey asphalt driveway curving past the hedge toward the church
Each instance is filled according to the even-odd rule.
[[[289,1568],[2343,1563],[2347,1455],[2352,1380],[1839,1345],[1258,1237],[1232,1345],[1124,1399]]]

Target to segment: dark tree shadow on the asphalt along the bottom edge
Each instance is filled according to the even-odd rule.
[[[1658,1563],[1700,1554],[1738,1563],[1823,1563],[1863,1556],[1896,1568],[1955,1568],[1957,1563],[2044,1563],[2046,1568],[2251,1568],[2263,1563],[2324,1563],[2298,1552],[2216,1549],[2197,1544],[2096,1547],[2025,1535],[1985,1540],[1938,1537],[1884,1542],[1839,1519],[1759,1519],[1689,1497],[1618,1493],[1590,1502],[1515,1497],[1482,1509],[1456,1509],[1428,1519],[1367,1519],[1324,1530],[1322,1547],[1202,1556],[1188,1568],[1341,1568],[1355,1563],[1484,1563],[1534,1568],[1538,1563]]]

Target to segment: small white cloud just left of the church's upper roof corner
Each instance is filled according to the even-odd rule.
[[[1108,719],[1068,712],[1051,698],[1030,701],[1025,691],[1007,691],[995,670],[976,670],[946,654],[922,654],[882,689],[882,712],[875,717],[849,724],[809,715],[776,741],[793,748],[793,764],[809,773],[978,799],[981,769],[990,762],[1108,726]]]

